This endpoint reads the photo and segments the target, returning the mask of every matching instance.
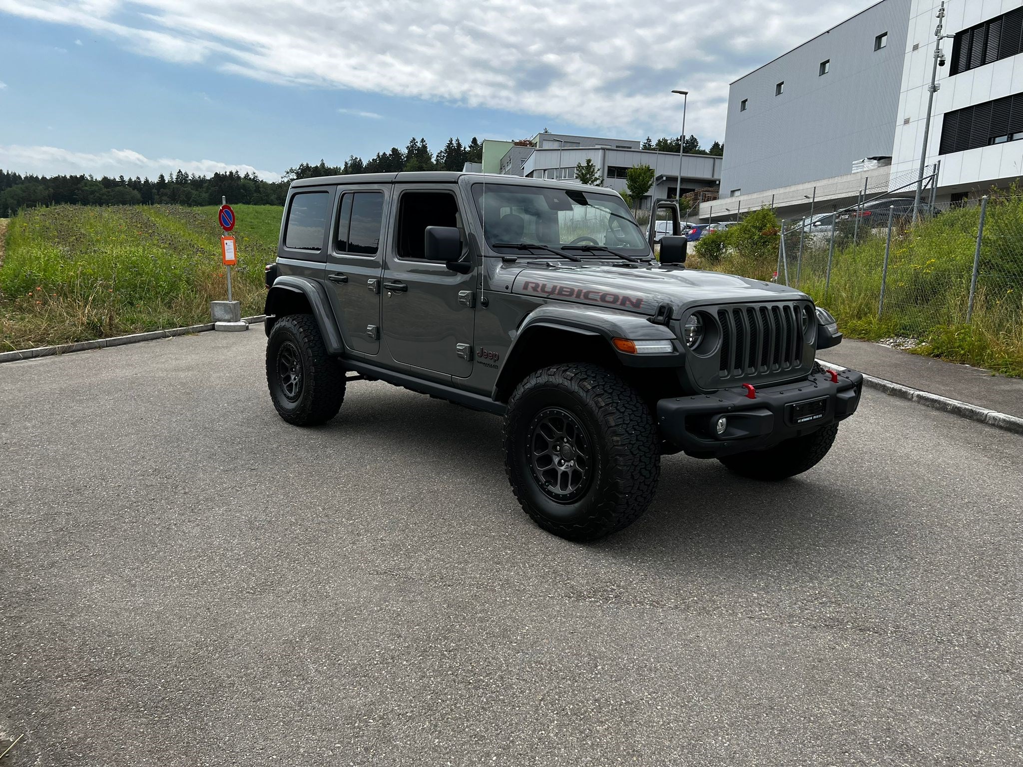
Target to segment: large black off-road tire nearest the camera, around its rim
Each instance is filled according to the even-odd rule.
[[[567,411],[586,433],[589,484],[572,502],[551,499],[534,476],[530,441],[536,419]],[[549,533],[592,541],[635,522],[654,498],[660,440],[638,393],[607,368],[567,363],[537,370],[516,388],[504,416],[504,467],[511,491]]]

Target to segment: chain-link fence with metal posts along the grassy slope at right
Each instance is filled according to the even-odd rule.
[[[925,194],[915,216],[906,195],[837,211],[825,225],[787,222],[775,279],[846,320],[876,318],[898,346],[936,328],[1020,334],[1023,197],[935,205]]]

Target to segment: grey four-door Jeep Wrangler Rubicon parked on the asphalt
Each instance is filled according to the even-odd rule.
[[[295,181],[266,268],[266,375],[288,423],[384,380],[504,417],[511,489],[592,540],[650,505],[661,455],[780,480],[813,466],[862,376],[824,370],[834,318],[784,285],[660,262],[622,198],[463,173]],[[651,231],[653,236],[655,232]]]

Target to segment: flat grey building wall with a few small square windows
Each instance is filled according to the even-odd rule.
[[[882,0],[731,84],[721,197],[842,176],[856,160],[892,155],[910,2]],[[885,32],[888,44],[876,51]]]

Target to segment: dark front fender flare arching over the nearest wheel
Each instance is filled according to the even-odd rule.
[[[684,350],[671,329],[655,325],[646,315],[619,312],[572,304],[546,304],[529,314],[511,335],[511,346],[504,364],[494,382],[493,397],[508,386],[508,377],[517,367],[514,364],[522,355],[530,354],[530,339],[544,329],[554,329],[589,339],[602,339],[608,350],[625,367],[676,367],[684,364]],[[614,339],[630,341],[670,341],[671,354],[639,356],[620,352],[612,343]]]

